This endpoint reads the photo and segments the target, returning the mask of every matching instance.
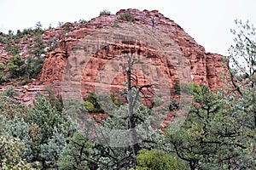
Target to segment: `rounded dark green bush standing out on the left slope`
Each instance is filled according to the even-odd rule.
[[[8,71],[12,78],[24,76],[25,68],[25,61],[20,57],[20,55],[12,56],[8,61]]]

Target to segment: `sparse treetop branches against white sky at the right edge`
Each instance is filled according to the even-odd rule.
[[[231,29],[231,33],[235,36],[235,44],[231,45],[228,57],[230,73],[232,76],[243,77],[242,81],[239,81],[241,84],[236,85],[239,88],[246,88],[253,86],[256,82],[256,29],[248,20],[245,24],[241,20],[235,20],[235,22],[238,30]]]

